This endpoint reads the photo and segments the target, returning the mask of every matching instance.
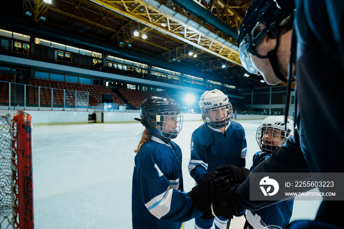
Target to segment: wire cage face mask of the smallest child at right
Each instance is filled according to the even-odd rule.
[[[290,130],[287,133],[280,127],[262,124],[258,127],[256,140],[259,148],[266,153],[272,153],[280,147],[290,136]]]

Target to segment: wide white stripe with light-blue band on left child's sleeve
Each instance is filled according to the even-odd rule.
[[[160,219],[170,211],[172,193],[173,189],[168,189],[166,192],[154,197],[144,205],[152,215]]]

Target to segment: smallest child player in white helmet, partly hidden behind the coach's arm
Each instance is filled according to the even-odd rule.
[[[255,167],[271,153],[280,147],[294,134],[294,123],[287,118],[287,132],[285,116],[269,116],[257,129],[256,140],[261,151],[253,156],[252,172]],[[293,209],[293,199],[281,201],[256,211],[246,211],[246,225],[249,229],[273,228],[283,229],[289,223]],[[245,227],[246,228],[246,227]]]

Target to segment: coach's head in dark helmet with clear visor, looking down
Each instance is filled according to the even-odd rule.
[[[287,82],[290,40],[295,9],[292,0],[253,1],[238,30],[240,60],[268,84]],[[289,47],[289,48],[287,48]]]

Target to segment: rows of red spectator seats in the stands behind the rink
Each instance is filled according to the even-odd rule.
[[[14,77],[8,74],[0,74],[0,81],[14,82]],[[112,96],[113,103],[123,104],[123,101],[119,96],[122,96],[125,102],[128,102],[132,108],[140,109],[145,98],[150,96],[160,96],[166,98],[172,98],[170,95],[162,92],[148,92],[141,90],[133,90],[126,88],[119,88],[118,95],[115,94],[110,88],[106,86],[96,86],[88,84],[71,83],[56,80],[47,80],[34,78],[29,80],[29,85],[27,86],[27,105],[37,106],[38,104],[38,86],[40,86],[40,106],[51,107],[52,103],[52,90],[53,89],[53,106],[62,107],[63,106],[63,89],[65,89],[65,105],[75,106],[75,91],[88,91],[88,106],[96,106],[102,102],[102,95],[108,94]],[[8,103],[8,83],[0,82],[0,104]],[[12,92],[14,96],[14,92]],[[79,93],[78,97],[86,96],[86,93]],[[84,98],[86,100],[86,97]]]

